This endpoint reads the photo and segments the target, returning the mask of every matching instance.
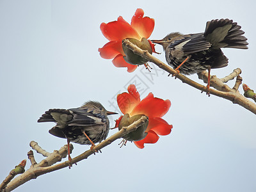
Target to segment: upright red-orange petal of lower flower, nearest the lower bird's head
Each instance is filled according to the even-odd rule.
[[[116,97],[118,107],[123,114],[130,113],[134,106],[140,102],[140,94],[137,92],[134,84],[130,84],[127,90],[129,93],[124,92]]]

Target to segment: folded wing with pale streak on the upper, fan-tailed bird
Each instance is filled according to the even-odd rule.
[[[169,45],[171,49],[184,52],[184,55],[193,54],[209,49],[211,44],[207,42],[204,33],[184,35],[181,39],[175,40]]]

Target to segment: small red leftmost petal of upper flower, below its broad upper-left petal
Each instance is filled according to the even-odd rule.
[[[115,58],[118,54],[125,55],[122,48],[122,40],[108,42],[102,48],[99,48],[98,51],[100,56],[107,60]]]

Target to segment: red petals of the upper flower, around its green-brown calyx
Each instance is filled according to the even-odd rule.
[[[131,65],[124,60],[123,56],[125,56],[125,53],[122,48],[122,40],[125,38],[141,40],[143,37],[148,38],[151,35],[155,21],[149,17],[143,17],[143,15],[143,10],[137,9],[132,17],[131,24],[126,22],[122,16],[108,24],[102,22],[100,24],[100,30],[108,38],[109,42],[102,48],[99,48],[100,56],[104,59],[114,58],[112,62],[115,67],[127,67],[128,72],[133,72],[137,68],[137,65]],[[152,51],[156,52],[154,44],[150,40],[148,42]]]

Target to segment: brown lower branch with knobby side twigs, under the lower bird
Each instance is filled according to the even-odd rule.
[[[128,134],[131,131],[135,131],[140,125],[144,124],[148,121],[147,116],[142,116],[139,120],[132,123],[131,125],[127,127],[123,127],[120,131],[116,132],[106,140],[102,141],[98,145],[94,147],[95,150],[100,150],[101,148],[104,148],[108,146],[109,144],[113,143],[113,141],[122,138],[125,134]],[[36,149],[36,152],[48,156],[43,159],[40,163],[36,163],[35,157],[33,156],[33,152],[30,150],[28,152],[28,158],[31,161],[31,166],[26,172],[22,173],[22,175],[19,175],[19,177],[16,177],[13,179],[6,188],[3,189],[4,192],[12,191],[13,189],[19,187],[20,185],[24,184],[25,182],[28,182],[31,179],[36,179],[40,175],[44,175],[45,173],[54,172],[56,170],[60,170],[61,168],[65,168],[69,166],[69,161],[65,161],[63,163],[54,164],[58,161],[61,161],[62,158],[67,156],[67,145],[64,147],[61,147],[60,150],[54,150],[51,154],[43,150],[38,143],[35,141],[31,141],[30,146]],[[70,148],[72,150],[72,148]],[[80,154],[77,157],[74,157],[72,159],[72,164],[75,164],[83,159],[87,159],[87,157],[91,156],[93,154],[93,150],[86,150],[83,154]]]

